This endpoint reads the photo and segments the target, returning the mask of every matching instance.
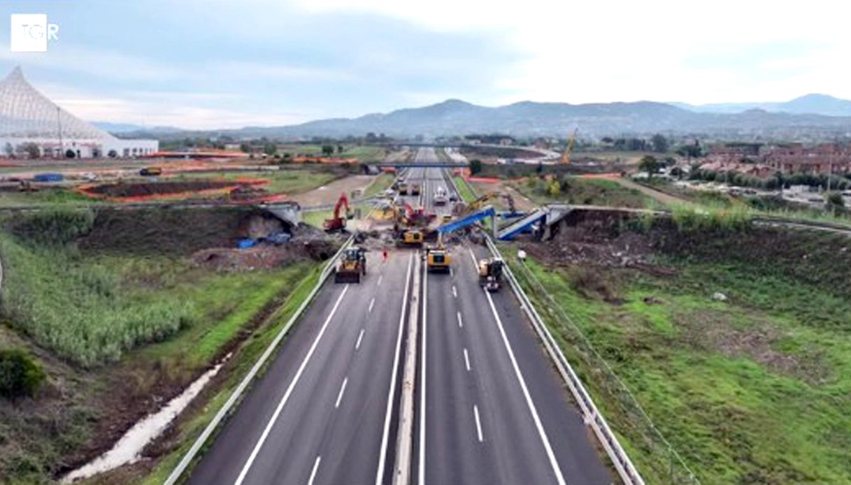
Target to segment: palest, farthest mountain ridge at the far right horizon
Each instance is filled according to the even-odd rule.
[[[714,103],[708,105],[671,103],[671,105],[702,113],[740,113],[757,109],[769,112],[851,117],[851,101],[840,100],[827,94],[806,94],[800,98],[780,103]]]

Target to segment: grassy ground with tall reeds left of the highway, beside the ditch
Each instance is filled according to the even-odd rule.
[[[91,216],[75,214],[41,218],[40,237],[0,233],[0,345],[30,348],[49,373],[25,406],[0,402],[0,481],[40,482],[91,453],[116,406],[144,414],[188,384],[318,265],[215,273],[174,254],[82,252],[72,241]]]

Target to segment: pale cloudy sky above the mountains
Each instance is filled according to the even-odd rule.
[[[794,8],[792,7],[794,5]],[[458,98],[851,99],[851,5],[762,0],[54,0],[47,53],[9,51],[88,120],[182,128],[354,117]]]

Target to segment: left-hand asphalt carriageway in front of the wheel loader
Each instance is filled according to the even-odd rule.
[[[191,483],[389,481],[413,260],[372,255],[360,284],[326,284]]]

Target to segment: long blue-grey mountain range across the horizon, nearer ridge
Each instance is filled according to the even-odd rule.
[[[806,110],[824,100],[804,97],[789,106]],[[789,109],[792,109],[789,108]],[[514,136],[565,136],[579,128],[581,136],[622,134],[717,134],[726,137],[798,137],[801,134],[847,134],[851,117],[772,112],[764,107],[748,111],[698,112],[651,101],[631,103],[540,103],[522,101],[507,106],[477,106],[462,100],[372,113],[356,118],[332,118],[281,127],[246,127],[192,134],[227,134],[235,138],[266,136],[298,139],[314,136],[363,136],[369,132],[405,138],[500,133]]]

